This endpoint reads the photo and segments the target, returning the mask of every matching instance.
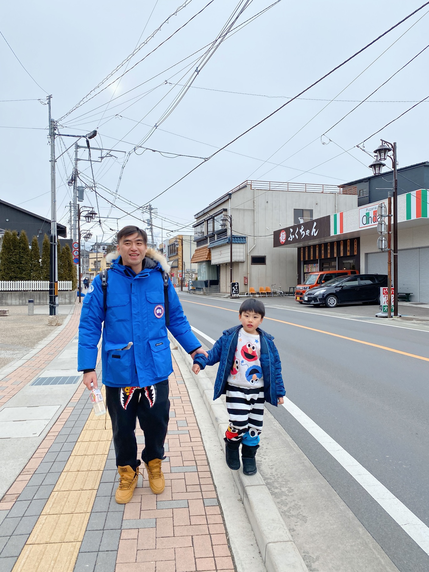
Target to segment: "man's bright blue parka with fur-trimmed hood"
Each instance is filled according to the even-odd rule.
[[[150,256],[160,258],[149,251]],[[113,262],[108,271],[107,309],[104,312],[101,277],[96,276],[82,303],[79,324],[78,370],[91,370],[101,345],[102,381],[112,387],[146,387],[173,372],[170,343],[165,326],[164,279],[161,265],[146,253],[144,268],[132,269]],[[168,281],[169,330],[187,352],[201,347]],[[132,341],[129,349],[125,347]]]

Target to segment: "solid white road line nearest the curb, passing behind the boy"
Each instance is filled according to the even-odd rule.
[[[204,337],[211,344],[216,340],[207,336],[204,332],[191,326],[194,332]],[[353,458],[339,443],[323,431],[304,411],[284,397],[283,407],[287,410],[329,454],[333,456],[341,467],[345,468],[349,475],[372,496],[390,517],[411,537],[422,550],[429,554],[429,527],[420,521],[410,509],[398,499],[384,484],[367,471],[355,458]]]

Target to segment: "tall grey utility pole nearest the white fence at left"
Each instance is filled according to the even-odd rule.
[[[51,97],[47,96],[49,114],[49,139],[51,146],[51,236],[49,266],[49,315],[57,315],[58,307],[58,260],[57,260],[57,191],[55,189],[55,121],[51,117]]]

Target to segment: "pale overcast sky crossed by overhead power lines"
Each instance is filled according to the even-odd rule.
[[[35,80],[0,37],[0,100],[32,100],[0,102],[3,200],[50,216],[47,106],[37,99],[45,103],[47,94],[52,94],[53,118],[66,116],[59,121],[60,133],[98,129],[99,136],[91,144],[116,149],[101,164],[94,162],[101,196],[113,201],[109,191],[115,192],[124,158],[128,159],[118,188],[118,208],[110,209],[101,196],[97,206],[95,193],[87,193],[85,204],[93,205],[102,219],[102,228],[93,228],[94,237],[98,234],[99,239],[108,239],[112,235],[109,229],[116,229],[117,224],[119,228],[124,224],[144,226],[125,215],[123,210],[133,210],[127,201],[147,204],[201,162],[194,157],[208,157],[423,3],[281,0],[225,38],[170,116],[147,138],[180,92],[181,86],[174,84],[183,85],[192,77],[197,58],[205,50],[188,56],[215,40],[240,4],[239,0],[213,0],[204,9],[209,0],[191,0],[128,65],[91,93],[90,97],[95,97],[67,114],[184,2],[18,0],[3,5],[0,30]],[[253,0],[235,26],[271,3]],[[367,165],[371,158],[355,145],[429,95],[429,48],[327,136],[321,136],[426,47],[428,11],[429,6],[420,10],[303,98],[153,200],[164,219],[158,217],[155,224],[170,231],[192,224],[194,213],[248,178],[338,185],[370,174]],[[137,64],[194,15],[173,38]],[[368,140],[366,149],[372,152],[383,136],[398,142],[400,167],[428,160],[428,106],[429,100],[418,105]],[[68,137],[63,140],[68,145],[73,142]],[[119,152],[128,153],[139,144],[162,154],[143,149],[129,156]],[[58,155],[63,150],[59,138],[56,145]],[[344,153],[344,149],[351,150]],[[80,157],[88,157],[83,150],[80,153]],[[66,183],[72,169],[66,153],[57,163],[57,204],[58,220],[67,226],[71,195]],[[89,162],[80,161],[79,169],[90,183]],[[134,215],[147,217],[138,210]],[[107,216],[124,218],[117,222],[105,220]],[[189,232],[189,228],[180,232]],[[165,239],[165,230],[162,236]]]

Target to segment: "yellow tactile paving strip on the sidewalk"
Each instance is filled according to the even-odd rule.
[[[73,572],[111,441],[109,416],[92,411],[13,572]]]

